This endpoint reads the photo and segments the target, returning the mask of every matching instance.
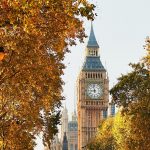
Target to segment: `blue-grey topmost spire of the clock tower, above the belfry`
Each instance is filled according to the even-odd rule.
[[[95,38],[95,34],[94,34],[93,24],[92,23],[91,23],[91,32],[90,32],[90,36],[89,36],[89,41],[88,41],[87,47],[99,48],[99,45],[98,45],[98,43],[96,41],[96,38]]]

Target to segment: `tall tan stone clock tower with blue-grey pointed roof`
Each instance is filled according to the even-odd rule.
[[[86,47],[86,57],[77,80],[78,150],[83,150],[95,136],[106,117],[109,101],[109,79],[100,60],[99,45],[93,26]]]

